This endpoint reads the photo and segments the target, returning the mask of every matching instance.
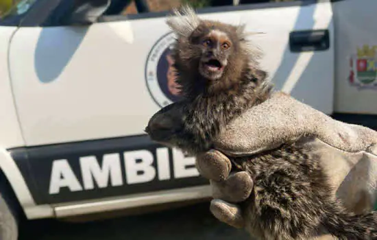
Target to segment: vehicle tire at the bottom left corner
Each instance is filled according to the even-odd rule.
[[[12,191],[0,178],[0,239],[17,240],[19,237],[19,216]]]

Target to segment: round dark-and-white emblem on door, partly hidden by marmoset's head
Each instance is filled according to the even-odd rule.
[[[145,67],[145,80],[149,93],[161,108],[180,99],[171,57],[174,42],[173,32],[162,36],[151,48]]]

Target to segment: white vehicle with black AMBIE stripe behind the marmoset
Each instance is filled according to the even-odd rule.
[[[61,218],[210,196],[195,159],[157,145],[149,117],[172,88],[167,12],[127,1],[23,0],[0,19],[0,239],[20,215]],[[109,11],[109,9],[112,11]],[[376,0],[197,9],[247,23],[276,87],[377,128]]]

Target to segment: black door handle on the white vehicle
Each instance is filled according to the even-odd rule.
[[[292,52],[325,51],[330,48],[328,29],[291,32],[289,47]]]

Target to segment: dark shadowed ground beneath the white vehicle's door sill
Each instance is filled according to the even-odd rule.
[[[20,240],[250,240],[242,230],[217,221],[208,203],[141,216],[84,224],[55,220],[29,221]]]

